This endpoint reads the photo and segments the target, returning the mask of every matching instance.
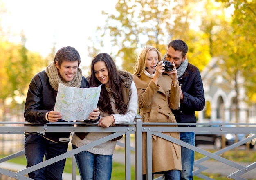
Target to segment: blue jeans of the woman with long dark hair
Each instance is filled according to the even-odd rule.
[[[72,145],[73,149],[77,147]],[[112,172],[112,154],[100,155],[88,151],[75,154],[81,180],[110,180]]]

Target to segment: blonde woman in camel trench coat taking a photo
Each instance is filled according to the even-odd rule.
[[[159,51],[153,46],[142,48],[133,75],[142,122],[176,122],[171,109],[177,109],[180,104],[180,88],[177,69],[173,64],[173,61],[161,61]],[[179,132],[163,133],[180,139]],[[143,179],[146,179],[145,143],[146,134],[143,134]],[[152,135],[152,169],[153,174],[164,174],[166,180],[180,179],[182,170],[180,145]]]

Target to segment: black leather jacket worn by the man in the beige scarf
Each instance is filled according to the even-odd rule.
[[[88,88],[89,83],[82,77],[81,88]],[[52,88],[45,70],[37,73],[31,80],[27,99],[25,103],[25,120],[30,123],[37,123],[32,126],[43,126],[49,123],[45,115],[48,111],[54,110],[57,91]],[[64,120],[59,120],[64,121]],[[29,124],[30,125],[30,124]],[[54,125],[56,126],[56,125]],[[68,125],[60,125],[68,126]],[[72,125],[71,125],[72,126]],[[68,143],[70,132],[25,132],[24,134],[36,133],[57,143]]]

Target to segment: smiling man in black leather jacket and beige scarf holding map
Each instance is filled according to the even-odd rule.
[[[88,88],[89,83],[83,77],[79,68],[80,55],[76,49],[67,46],[56,53],[54,61],[46,70],[36,74],[29,85],[25,103],[25,120],[34,126],[40,126],[49,122],[61,122],[62,115],[54,111],[54,105],[59,83],[65,86]],[[99,117],[99,109],[94,109],[88,117],[96,120]],[[60,124],[60,126],[63,126]],[[27,167],[40,162],[43,158],[48,160],[67,152],[70,132],[25,132],[25,155]],[[29,178],[36,180],[61,180],[65,166],[65,159],[52,165],[43,167],[29,173]]]

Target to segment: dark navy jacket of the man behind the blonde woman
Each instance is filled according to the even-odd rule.
[[[180,109],[172,110],[172,112],[177,123],[196,123],[195,111],[203,110],[205,105],[204,88],[199,69],[188,63],[186,71],[178,78],[178,81],[182,85],[184,99],[180,102]]]

